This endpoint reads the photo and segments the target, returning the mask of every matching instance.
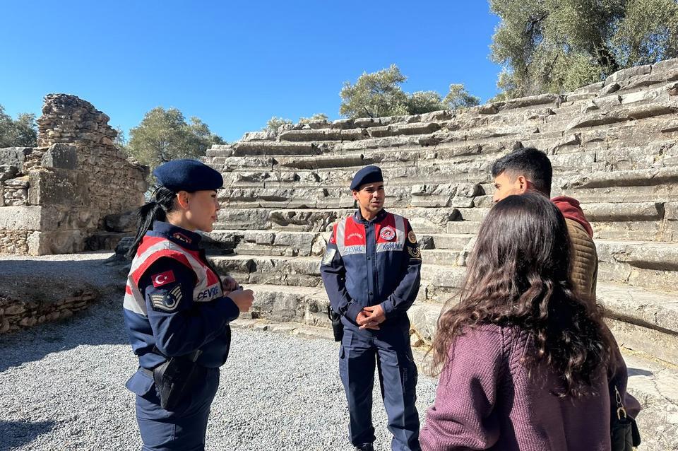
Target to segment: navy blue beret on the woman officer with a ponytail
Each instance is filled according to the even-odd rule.
[[[224,186],[221,174],[196,160],[172,160],[153,170],[157,182],[174,192],[212,191]]]

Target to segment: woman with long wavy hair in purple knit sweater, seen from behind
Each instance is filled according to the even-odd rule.
[[[639,406],[602,307],[572,290],[570,256],[546,197],[509,196],[489,211],[458,304],[438,321],[422,450],[610,449],[610,387],[630,416]]]

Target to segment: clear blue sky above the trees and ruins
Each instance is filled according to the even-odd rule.
[[[47,93],[92,102],[129,132],[156,106],[227,141],[271,116],[339,116],[339,90],[397,64],[403,89],[496,93],[498,18],[470,1],[11,1],[0,104],[40,116]],[[129,137],[129,134],[128,134]]]

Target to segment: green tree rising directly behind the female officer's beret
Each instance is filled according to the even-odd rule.
[[[129,133],[129,154],[151,168],[176,158],[204,156],[212,144],[225,142],[197,117],[186,123],[176,108],[153,108]]]

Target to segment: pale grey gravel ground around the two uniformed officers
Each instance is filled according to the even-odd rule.
[[[0,257],[3,270],[7,260]],[[88,281],[103,283],[112,274],[102,265],[83,265]],[[208,450],[352,450],[338,344],[251,329],[234,329],[233,336],[212,405]],[[118,298],[100,300],[66,322],[2,336],[0,451],[141,448],[133,394],[124,388],[135,370]],[[420,375],[422,421],[434,391],[435,380]],[[376,449],[388,450],[378,386],[374,399]]]

